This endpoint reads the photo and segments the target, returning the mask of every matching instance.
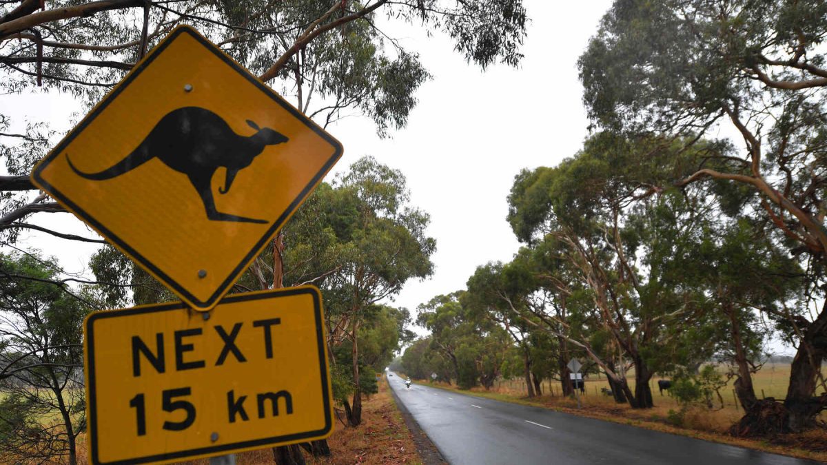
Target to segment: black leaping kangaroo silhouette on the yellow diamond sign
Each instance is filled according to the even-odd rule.
[[[157,157],[165,165],[189,177],[189,182],[201,196],[207,218],[213,221],[267,223],[264,219],[219,212],[215,209],[213,189],[210,187],[215,171],[223,166],[227,168],[227,178],[218,192],[227,194],[238,170],[249,166],[265,146],[289,140],[269,127],[260,128],[250,120],[247,124],[258,132],[250,137],[239,136],[222,117],[205,108],[178,108],[160,118],[134,151],[106,170],[84,173],[74,166],[68,154],[66,161],[78,175],[99,181],[111,180]]]

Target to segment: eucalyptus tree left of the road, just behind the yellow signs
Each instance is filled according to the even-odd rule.
[[[283,261],[286,283],[313,283],[322,290],[328,347],[331,352],[341,351],[342,345],[350,348],[344,362],[351,366],[353,396],[343,405],[354,426],[361,423],[360,367],[371,364],[363,360],[359,341],[368,337],[370,348],[379,336],[375,325],[393,321],[396,343],[410,338],[403,329],[407,312],[379,304],[398,294],[409,279],[433,272],[430,256],[436,242],[425,234],[428,221],[427,213],[410,205],[404,175],[364,157],[299,209],[285,228],[283,251],[267,252],[283,254],[275,262]],[[264,258],[251,267],[246,282],[266,284],[275,276]],[[384,356],[372,361],[377,368],[385,363]]]

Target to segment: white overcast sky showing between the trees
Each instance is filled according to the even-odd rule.
[[[366,117],[345,118],[327,128],[345,147],[327,180],[361,156],[374,156],[404,173],[412,204],[431,215],[428,235],[437,239],[436,271],[429,280],[410,281],[394,300],[414,316],[418,304],[463,289],[476,266],[512,258],[519,242],[505,215],[514,175],[523,168],[556,165],[580,149],[586,138],[588,121],[576,60],[611,2],[524,4],[531,23],[522,48],[525,58],[516,69],[494,65],[482,72],[453,51],[447,36],[427,37],[417,26],[386,26],[407,50],[419,53],[433,74],[416,93],[418,105],[408,126],[386,140],[375,136]],[[63,130],[77,120],[71,115],[80,108],[68,96],[36,93],[4,95],[0,105],[18,122],[26,115]],[[69,214],[41,213],[37,223],[95,236]],[[71,272],[85,272],[88,256],[98,248],[41,233],[22,233],[18,245],[58,257]],[[777,352],[789,350],[773,346]]]

